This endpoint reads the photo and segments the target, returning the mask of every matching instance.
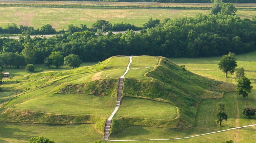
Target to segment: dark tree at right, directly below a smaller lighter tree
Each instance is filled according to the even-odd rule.
[[[248,78],[242,77],[237,81],[236,93],[238,95],[243,95],[244,99],[248,96],[248,93],[251,92],[251,89],[251,81]]]

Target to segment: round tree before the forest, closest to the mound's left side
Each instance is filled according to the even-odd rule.
[[[64,57],[64,64],[70,68],[73,67],[77,68],[80,67],[80,64],[82,64],[82,61],[79,59],[79,56],[75,54],[70,54],[69,56]]]

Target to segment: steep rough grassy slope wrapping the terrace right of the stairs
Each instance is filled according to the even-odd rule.
[[[178,129],[192,127],[195,124],[197,106],[202,99],[221,98],[225,91],[235,89],[234,85],[184,70],[166,58],[161,58],[158,66],[147,72],[145,76],[151,77],[153,80],[125,78],[123,96],[172,103],[177,107],[177,118],[172,120],[157,120],[150,117],[113,119],[111,133],[116,133],[132,125]]]

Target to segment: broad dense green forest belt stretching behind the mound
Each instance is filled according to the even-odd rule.
[[[236,15],[198,14],[166,19],[163,23],[150,19],[144,28],[141,33],[127,30],[125,34],[95,35],[85,30],[47,39],[31,39],[29,35],[19,40],[3,38],[0,39],[2,66],[15,63],[7,62],[7,53],[24,55],[24,49],[33,51],[35,63],[43,63],[53,51],[61,52],[63,57],[75,54],[84,62],[95,62],[116,55],[209,57],[229,52],[242,54],[256,48],[256,20],[242,20]]]

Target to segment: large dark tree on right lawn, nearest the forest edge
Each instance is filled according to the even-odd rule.
[[[226,73],[226,77],[227,73],[232,75],[235,72],[237,61],[234,55],[235,53],[229,52],[228,55],[222,56],[220,62],[218,63],[219,69]]]

